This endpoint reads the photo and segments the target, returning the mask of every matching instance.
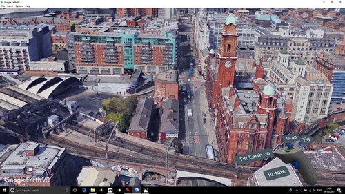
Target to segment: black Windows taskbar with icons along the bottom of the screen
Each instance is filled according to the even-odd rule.
[[[0,187],[0,194],[162,194],[162,193],[279,193],[279,194],[345,194],[344,186],[329,187]]]

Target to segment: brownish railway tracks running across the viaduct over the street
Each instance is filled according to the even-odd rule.
[[[72,130],[76,130],[77,132],[88,136],[88,132],[83,130],[83,128],[79,126],[70,126],[68,128]],[[10,127],[11,130],[14,132],[22,134],[23,130],[21,128],[17,128],[14,126]],[[105,151],[99,148],[90,148],[88,146],[83,146],[80,144],[76,144],[74,142],[66,141],[61,137],[57,137],[57,135],[52,135],[52,137],[43,139],[41,134],[30,134],[30,140],[36,142],[42,142],[46,144],[54,144],[57,146],[61,146],[66,148],[66,151],[71,154],[76,155],[85,155],[90,158],[95,159],[102,159],[106,157]],[[107,141],[108,137],[99,137],[99,141]],[[158,151],[157,149],[148,148],[141,146],[140,144],[134,144],[129,141],[124,141],[119,138],[110,141],[110,144],[119,146],[121,148],[126,148],[130,151],[135,151],[137,153],[142,153],[144,155],[150,155],[155,157],[155,160],[147,160],[142,159],[140,157],[135,157],[134,155],[124,155],[112,151],[108,151],[109,155],[109,162],[119,162],[119,163],[132,163],[133,165],[137,164],[144,164],[144,166],[159,166],[159,168],[165,168],[165,153]],[[186,157],[179,157],[178,155],[171,155],[169,154],[169,168],[177,168],[183,171],[192,171],[195,173],[201,174],[208,174],[208,175],[215,175],[221,177],[228,177],[232,178],[232,175],[237,175],[240,180],[247,180],[248,177],[253,175],[254,169],[246,169],[246,168],[234,168],[230,166],[230,164],[223,164],[221,162],[213,162],[208,161],[207,159],[201,159],[199,157],[193,156],[186,156]],[[317,186],[335,186],[335,183],[339,186],[345,185],[345,177],[329,177],[324,175],[318,174],[318,181]],[[303,180],[302,180],[303,182]],[[303,182],[304,183],[304,182]],[[307,185],[304,183],[304,185]]]

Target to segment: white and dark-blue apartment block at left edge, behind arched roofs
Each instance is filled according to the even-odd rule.
[[[30,61],[52,55],[49,27],[46,24],[1,25],[0,68],[29,70]]]

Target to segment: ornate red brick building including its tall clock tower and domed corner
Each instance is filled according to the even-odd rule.
[[[236,155],[276,148],[288,132],[288,114],[279,90],[265,84],[262,61],[255,72],[255,90],[234,88],[236,21],[228,17],[221,32],[219,53],[210,54],[206,76],[208,104],[215,111],[216,136],[222,162]],[[254,88],[254,87],[253,87]],[[246,164],[262,166],[263,161]]]

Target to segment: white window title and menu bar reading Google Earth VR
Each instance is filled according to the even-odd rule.
[[[343,2],[344,1],[344,2]],[[1,8],[344,8],[345,0],[0,0]]]

